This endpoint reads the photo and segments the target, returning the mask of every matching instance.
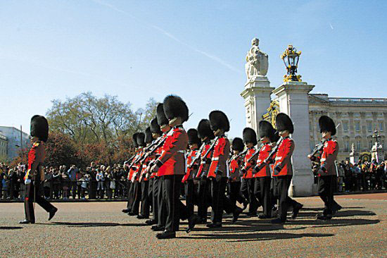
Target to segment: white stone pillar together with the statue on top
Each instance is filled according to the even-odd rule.
[[[266,77],[269,68],[268,56],[258,47],[260,40],[254,38],[251,48],[246,55],[247,81],[241,96],[245,99],[246,126],[253,128],[258,133],[258,123],[270,106],[270,94],[274,87]]]

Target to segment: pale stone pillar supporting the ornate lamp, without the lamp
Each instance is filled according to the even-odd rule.
[[[307,82],[284,82],[272,93],[277,95],[279,111],[291,117],[294,125],[293,138],[296,149],[292,156],[293,180],[289,188],[291,196],[313,195],[313,173],[307,154],[310,153],[309,99],[308,93],[315,85]]]

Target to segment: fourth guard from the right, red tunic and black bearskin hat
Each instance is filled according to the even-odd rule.
[[[241,172],[242,176],[242,184],[241,184],[241,192],[243,196],[248,199],[248,216],[256,216],[257,209],[260,207],[260,204],[257,198],[254,195],[254,182],[255,178],[253,177],[253,170],[257,161],[257,149],[255,149],[255,145],[257,145],[257,134],[255,130],[252,128],[244,128],[243,129],[243,143],[248,149],[246,155],[243,159],[243,168]]]

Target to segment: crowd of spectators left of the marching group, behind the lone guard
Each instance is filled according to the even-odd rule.
[[[46,166],[42,194],[46,199],[122,199],[127,196],[127,173],[121,164],[87,168]],[[0,199],[24,199],[26,166],[0,163]]]

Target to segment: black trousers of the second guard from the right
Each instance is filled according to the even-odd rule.
[[[294,208],[296,204],[298,204],[298,202],[288,196],[288,189],[290,187],[292,177],[292,175],[273,177],[275,195],[279,199],[278,216],[281,221],[286,221],[288,207],[292,206]]]

